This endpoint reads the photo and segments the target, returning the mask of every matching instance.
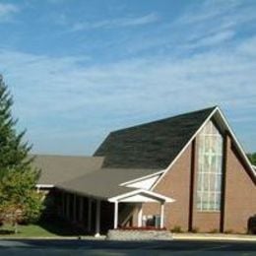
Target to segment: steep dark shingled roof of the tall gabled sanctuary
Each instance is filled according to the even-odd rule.
[[[94,156],[103,167],[165,168],[216,107],[111,132]]]

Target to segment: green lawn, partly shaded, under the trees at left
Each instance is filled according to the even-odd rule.
[[[20,224],[18,233],[14,233],[14,226],[4,224],[0,227],[1,238],[19,237],[56,237],[56,236],[78,236],[83,235],[77,228],[63,222],[44,222],[38,224]]]

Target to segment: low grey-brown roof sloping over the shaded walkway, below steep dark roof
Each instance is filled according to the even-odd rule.
[[[101,199],[111,198],[135,190],[120,183],[158,172],[159,169],[103,168],[56,185],[57,188]]]

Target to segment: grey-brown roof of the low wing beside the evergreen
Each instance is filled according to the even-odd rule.
[[[37,184],[55,185],[101,167],[103,158],[36,156],[33,165],[41,170]]]

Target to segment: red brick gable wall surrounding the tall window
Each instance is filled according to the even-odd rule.
[[[174,203],[165,205],[164,225],[166,228],[179,226],[184,231],[192,228],[202,232],[246,232],[249,217],[256,214],[255,180],[249,175],[250,170],[246,169],[241,158],[237,157],[229,136],[226,138],[222,210],[220,212],[200,212],[195,207],[198,148],[195,141],[194,154],[193,144],[191,144],[154,189],[155,192],[176,200]],[[195,158],[194,161],[193,158]],[[194,172],[191,164],[194,164]],[[194,191],[193,197],[191,197],[191,191]],[[190,207],[191,202],[192,208]],[[144,204],[144,215],[159,213],[159,204]]]

